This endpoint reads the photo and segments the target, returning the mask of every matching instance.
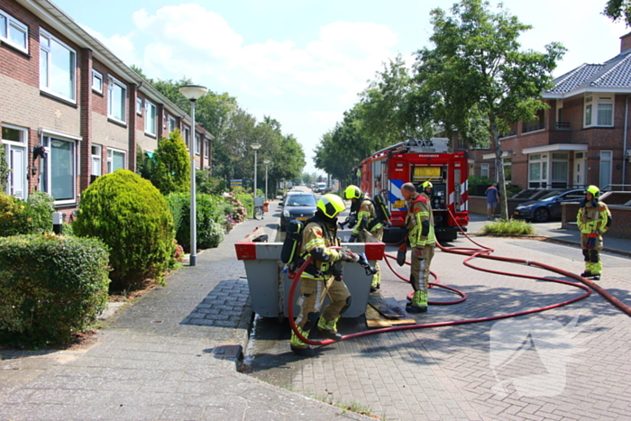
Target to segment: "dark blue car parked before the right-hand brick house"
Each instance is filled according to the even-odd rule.
[[[563,202],[579,202],[585,197],[584,189],[549,190],[535,200],[528,200],[515,208],[513,217],[533,222],[546,222],[551,219],[561,219],[561,204]]]

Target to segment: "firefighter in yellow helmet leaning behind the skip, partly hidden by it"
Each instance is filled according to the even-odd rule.
[[[351,212],[357,213],[357,223],[352,227],[350,243],[359,241],[368,243],[368,231],[370,235],[381,241],[383,238],[383,224],[377,217],[377,210],[368,195],[361,193],[357,186],[349,186],[344,190],[344,198],[351,200]],[[364,229],[365,228],[365,229]],[[372,276],[370,292],[375,292],[381,286],[381,270],[379,262],[375,262],[377,273]]]

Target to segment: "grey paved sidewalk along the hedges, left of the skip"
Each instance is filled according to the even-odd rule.
[[[233,243],[276,224],[272,213],[239,224],[218,248],[199,253],[196,267],[119,310],[95,343],[1,351],[0,419],[370,419],[236,371],[252,313]]]

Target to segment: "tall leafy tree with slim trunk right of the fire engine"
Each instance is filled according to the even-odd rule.
[[[545,53],[520,51],[517,37],[531,29],[499,6],[462,0],[447,16],[432,11],[434,50],[416,53],[417,82],[434,93],[437,117],[459,132],[471,131],[471,120],[483,118],[486,134],[495,145],[495,168],[501,195],[502,219],[508,219],[506,180],[499,133],[508,124],[528,121],[546,107],[541,93],[551,87],[551,72],[565,49],[553,42]]]

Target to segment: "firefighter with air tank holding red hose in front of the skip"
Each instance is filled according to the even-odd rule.
[[[307,337],[317,325],[327,338],[339,341],[337,320],[351,306],[351,293],[342,279],[343,261],[359,261],[360,256],[347,249],[335,250],[340,245],[337,238],[337,215],[345,209],[342,197],[328,194],[317,202],[315,216],[306,222],[302,233],[300,255],[313,257],[314,261],[300,277],[300,297],[297,305],[300,314],[296,318],[297,330]],[[335,276],[334,276],[335,275]],[[331,303],[321,308],[325,297]],[[321,316],[322,312],[322,316]],[[301,356],[312,356],[314,350],[291,332],[291,351]]]

